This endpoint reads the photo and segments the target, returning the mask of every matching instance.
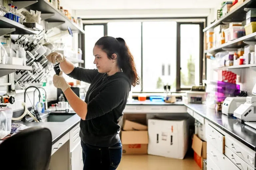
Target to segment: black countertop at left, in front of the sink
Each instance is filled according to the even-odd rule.
[[[67,132],[74,128],[80,122],[80,117],[75,114],[64,122],[22,122],[15,121],[15,123],[21,123],[28,127],[45,127],[49,128],[52,133],[52,144],[57,142],[61,137],[63,137]]]

